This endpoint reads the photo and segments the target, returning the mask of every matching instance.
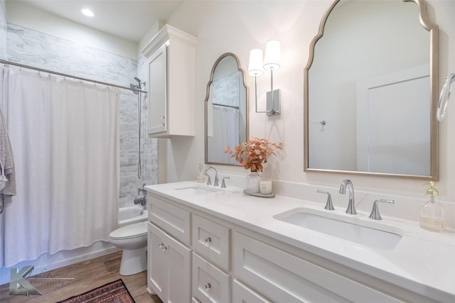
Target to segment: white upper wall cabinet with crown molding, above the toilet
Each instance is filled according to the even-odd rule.
[[[197,38],[164,26],[141,51],[149,65],[149,136],[194,136]]]

